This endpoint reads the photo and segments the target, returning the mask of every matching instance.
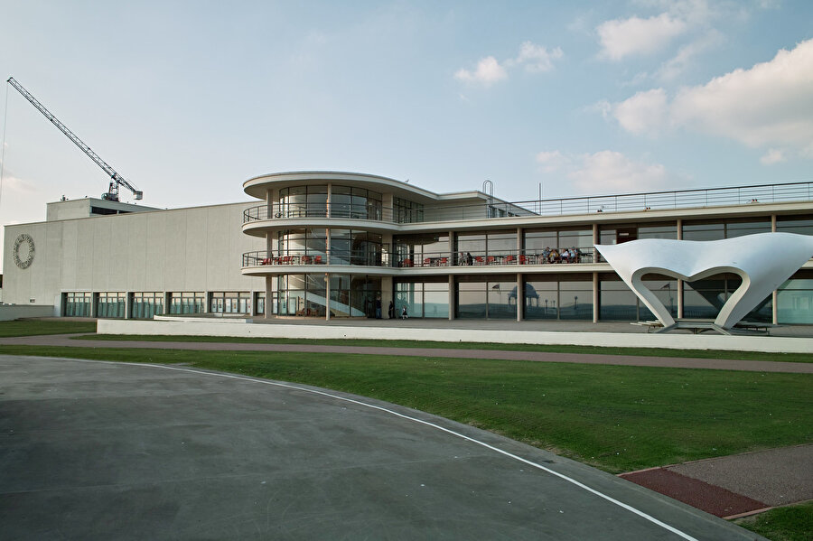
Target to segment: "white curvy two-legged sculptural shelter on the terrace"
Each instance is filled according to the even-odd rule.
[[[793,233],[759,233],[723,240],[642,238],[596,249],[655,314],[665,329],[677,323],[642,282],[657,273],[688,282],[734,273],[743,284],[724,303],[715,326],[727,330],[813,257],[813,237]]]

